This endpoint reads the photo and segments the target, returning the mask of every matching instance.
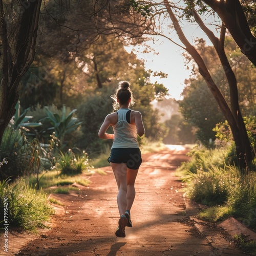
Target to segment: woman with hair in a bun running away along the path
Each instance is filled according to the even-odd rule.
[[[132,227],[130,210],[135,198],[135,180],[141,165],[141,152],[137,142],[137,134],[145,133],[141,113],[130,110],[133,94],[130,83],[119,83],[116,93],[119,110],[107,115],[99,130],[101,139],[113,139],[110,165],[118,186],[117,205],[120,214],[117,237],[125,237],[125,227]],[[106,133],[112,125],[114,134]]]

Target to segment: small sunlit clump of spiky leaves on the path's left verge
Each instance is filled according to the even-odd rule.
[[[61,154],[59,159],[60,172],[62,175],[77,175],[84,170],[92,168],[91,161],[88,154],[84,151],[82,153],[75,153],[77,148],[70,149],[67,153]]]

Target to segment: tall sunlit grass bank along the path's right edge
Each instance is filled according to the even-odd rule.
[[[182,166],[187,194],[190,199],[211,206],[200,214],[201,217],[217,221],[233,216],[256,229],[256,173],[245,174],[236,165],[226,164],[224,152],[192,153],[190,163]]]

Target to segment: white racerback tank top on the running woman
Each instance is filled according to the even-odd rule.
[[[137,142],[137,129],[135,124],[130,124],[126,120],[126,113],[130,109],[119,109],[117,111],[118,120],[113,125],[114,142],[112,148],[118,147],[139,147]]]

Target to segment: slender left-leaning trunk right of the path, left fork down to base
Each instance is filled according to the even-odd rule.
[[[250,149],[250,143],[249,140],[244,141],[244,130],[242,128],[243,125],[241,124],[241,118],[237,115],[233,115],[231,109],[229,108],[228,103],[226,102],[225,98],[223,97],[222,93],[220,92],[219,88],[217,87],[216,83],[212,80],[210,73],[207,69],[207,67],[205,66],[205,63],[202,59],[202,57],[200,56],[200,54],[197,52],[197,50],[190,44],[190,42],[187,40],[187,38],[185,37],[178,19],[176,18],[176,16],[174,15],[172,9],[170,8],[169,2],[168,0],[164,0],[164,4],[165,7],[167,9],[167,12],[170,16],[170,18],[172,19],[174,28],[180,38],[180,40],[182,41],[182,43],[185,46],[186,51],[194,58],[194,60],[196,61],[198,68],[199,68],[199,73],[203,76],[204,80],[206,81],[206,84],[208,86],[208,88],[210,89],[212,95],[214,95],[218,105],[220,106],[220,109],[223,113],[223,115],[225,116],[226,120],[228,121],[229,125],[230,125],[230,129],[234,138],[234,142],[236,144],[236,151],[237,151],[237,157],[239,159],[239,164],[241,167],[246,167],[247,163],[246,161],[250,162],[253,159],[253,155]],[[233,106],[238,105],[238,98],[237,98],[237,102],[235,102],[236,97],[233,97],[234,102],[232,103]],[[240,111],[239,111],[240,113]],[[236,113],[236,114],[239,114]],[[239,124],[239,125],[238,125]],[[241,126],[241,127],[239,127]],[[241,130],[240,130],[241,128]],[[246,132],[246,130],[245,130]],[[246,137],[247,133],[246,133]]]

